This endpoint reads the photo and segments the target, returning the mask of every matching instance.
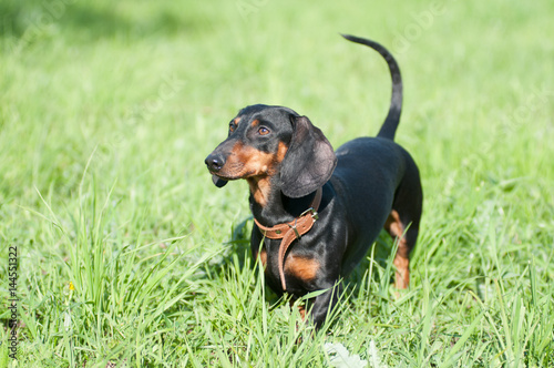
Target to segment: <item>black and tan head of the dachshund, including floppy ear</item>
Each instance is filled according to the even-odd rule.
[[[205,160],[214,184],[265,178],[297,198],[324,185],[337,157],[331,144],[308,117],[283,106],[252,105],[229,122],[228,136]],[[277,176],[278,175],[278,176]]]

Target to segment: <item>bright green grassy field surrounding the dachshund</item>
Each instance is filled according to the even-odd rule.
[[[550,0],[2,0],[0,367],[554,367],[553,17]],[[339,32],[400,63],[424,216],[410,289],[381,236],[312,336],[254,267],[247,185],[217,190],[203,161],[252,103],[335,147],[376,134],[387,67]]]

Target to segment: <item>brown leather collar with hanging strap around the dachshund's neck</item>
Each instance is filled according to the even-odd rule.
[[[287,253],[287,249],[295,238],[299,239],[304,234],[308,233],[311,226],[314,226],[316,219],[318,219],[317,209],[319,208],[319,204],[321,203],[322,192],[324,191],[319,187],[316,191],[316,196],[311,201],[310,207],[302,212],[300,216],[296,217],[290,223],[283,223],[271,227],[266,227],[261,225],[256,218],[254,218],[254,222],[256,223],[256,225],[258,225],[261,234],[264,234],[265,237],[268,237],[270,239],[283,239],[279,245],[278,259],[279,277],[283,290],[287,289],[284,269],[285,255]]]

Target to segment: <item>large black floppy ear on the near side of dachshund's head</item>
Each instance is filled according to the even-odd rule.
[[[337,156],[324,133],[306,116],[291,115],[293,139],[280,167],[281,192],[299,198],[331,177]]]

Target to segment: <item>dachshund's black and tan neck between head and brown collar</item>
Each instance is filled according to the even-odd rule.
[[[316,192],[304,197],[290,198],[283,194],[276,177],[248,178],[250,211],[264,226],[275,226],[293,221],[308,209]]]

